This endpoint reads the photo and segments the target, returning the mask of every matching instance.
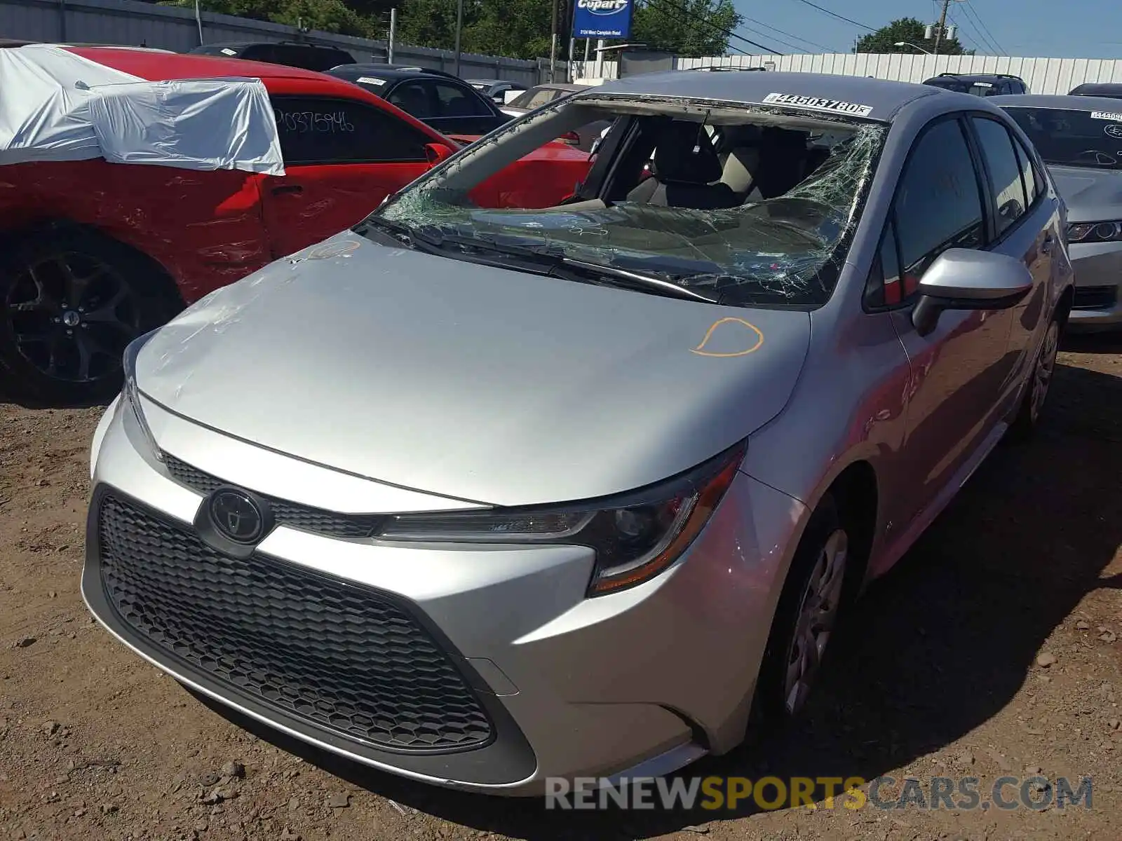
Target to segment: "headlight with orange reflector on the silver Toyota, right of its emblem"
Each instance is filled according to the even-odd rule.
[[[744,459],[738,444],[665,482],[622,497],[564,506],[406,514],[379,537],[427,543],[577,544],[596,552],[589,595],[647,581],[689,548]]]

